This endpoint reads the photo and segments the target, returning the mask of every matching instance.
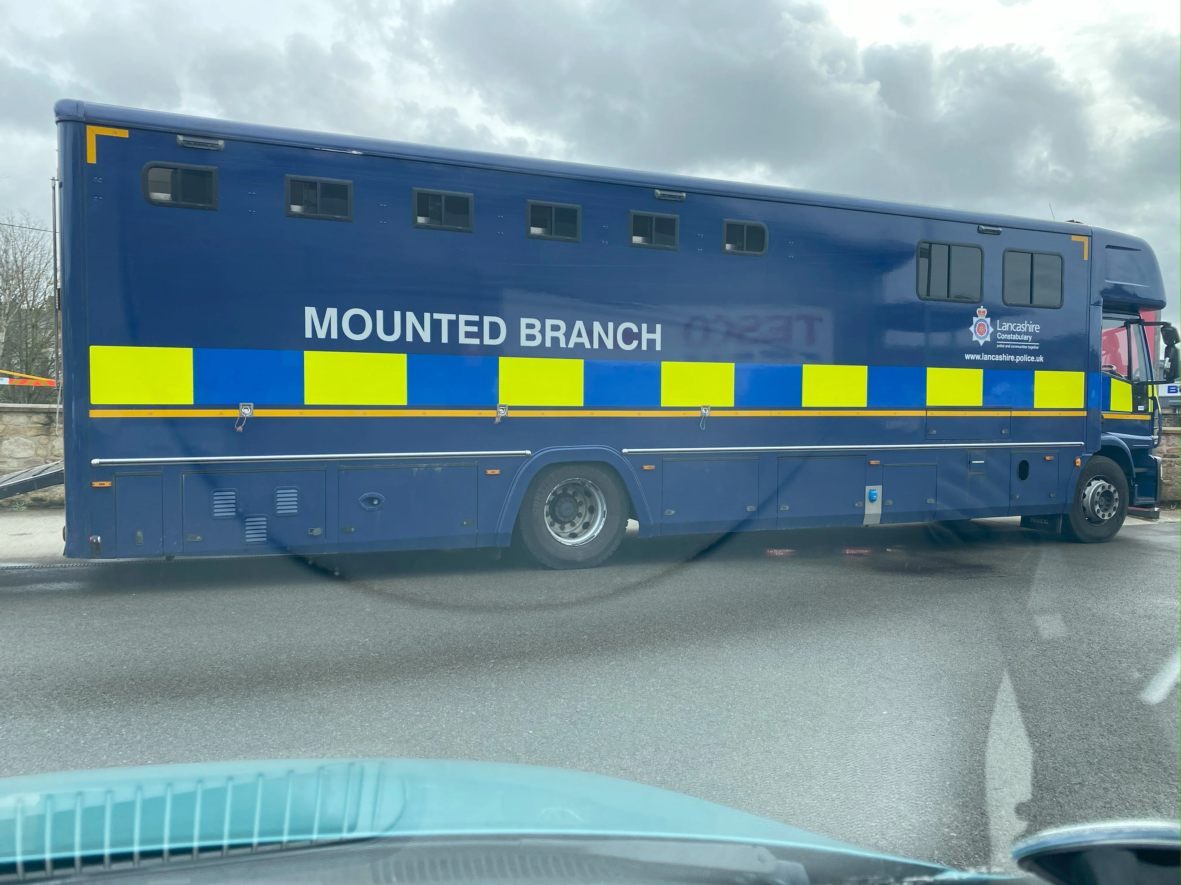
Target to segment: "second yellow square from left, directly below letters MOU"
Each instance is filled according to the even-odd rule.
[[[406,405],[406,354],[304,352],[308,406]]]

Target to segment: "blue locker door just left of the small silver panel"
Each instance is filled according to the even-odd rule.
[[[864,522],[863,455],[779,458],[778,473],[776,523],[781,529]]]

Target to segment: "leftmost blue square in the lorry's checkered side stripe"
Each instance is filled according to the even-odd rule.
[[[195,347],[193,402],[304,405],[304,352]]]

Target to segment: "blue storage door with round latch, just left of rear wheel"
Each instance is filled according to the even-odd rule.
[[[346,467],[339,478],[341,550],[476,544],[476,465]]]

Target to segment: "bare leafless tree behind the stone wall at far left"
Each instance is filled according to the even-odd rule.
[[[0,217],[0,369],[52,378],[53,243],[28,212]],[[50,402],[52,387],[0,386],[7,402]]]

